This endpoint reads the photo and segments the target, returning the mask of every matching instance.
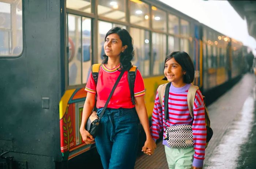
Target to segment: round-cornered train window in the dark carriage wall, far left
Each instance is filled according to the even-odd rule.
[[[22,22],[22,0],[0,0],[0,57],[22,53]]]

